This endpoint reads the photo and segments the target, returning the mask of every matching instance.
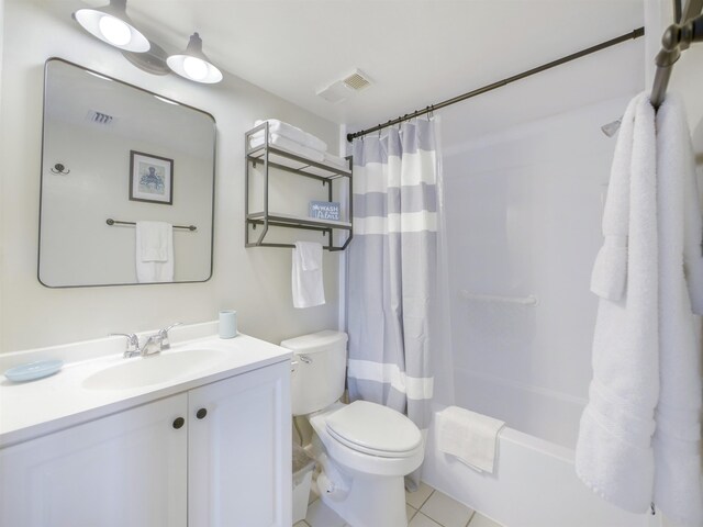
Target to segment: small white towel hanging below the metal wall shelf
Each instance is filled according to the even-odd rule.
[[[295,242],[291,271],[294,307],[313,307],[325,303],[322,278],[322,245]]]

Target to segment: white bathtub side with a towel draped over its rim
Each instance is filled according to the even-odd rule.
[[[443,407],[435,407],[436,413]],[[661,514],[636,515],[591,493],[576,476],[573,450],[505,427],[494,474],[436,449],[427,435],[423,480],[505,527],[660,527]]]

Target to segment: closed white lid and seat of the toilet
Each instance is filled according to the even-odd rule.
[[[325,419],[327,431],[347,447],[373,456],[400,458],[422,444],[415,424],[400,412],[355,401]]]

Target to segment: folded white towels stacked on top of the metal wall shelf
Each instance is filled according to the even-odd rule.
[[[259,120],[256,121],[254,125],[258,126],[264,123],[268,123],[268,141],[270,145],[291,152],[292,154],[298,154],[313,161],[332,164],[343,169],[349,168],[346,159],[327,152],[327,144],[320,137],[315,137],[292,124],[284,123],[277,119]],[[249,146],[255,148],[263,144],[264,131],[257,132],[252,136]]]

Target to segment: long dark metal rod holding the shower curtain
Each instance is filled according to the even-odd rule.
[[[692,2],[703,2],[703,0],[692,0]],[[379,130],[387,128],[388,126],[393,126],[394,124],[402,123],[403,121],[408,121],[410,119],[417,117],[420,115],[425,115],[425,114],[431,113],[431,112],[433,112],[435,110],[440,110],[440,109],[446,108],[446,106],[448,106],[450,104],[455,104],[457,102],[461,102],[461,101],[465,101],[467,99],[471,99],[472,97],[487,93],[489,91],[495,90],[496,88],[502,88],[503,86],[506,86],[506,85],[509,85],[511,82],[515,82],[516,80],[521,80],[521,79],[524,79],[524,78],[529,77],[532,75],[545,71],[547,69],[551,69],[551,68],[555,68],[557,66],[561,66],[562,64],[570,63],[571,60],[576,60],[577,58],[585,57],[587,55],[591,55],[592,53],[600,52],[601,49],[605,49],[607,47],[612,47],[612,46],[615,46],[617,44],[622,44],[623,42],[627,42],[627,41],[632,41],[632,40],[635,40],[635,38],[639,38],[644,34],[645,34],[645,29],[644,27],[637,27],[636,30],[634,30],[634,31],[632,31],[629,33],[625,33],[624,35],[621,35],[621,36],[618,36],[616,38],[612,38],[610,41],[602,42],[602,43],[600,43],[600,44],[598,44],[595,46],[587,47],[585,49],[581,49],[580,52],[573,53],[571,55],[567,55],[566,57],[561,57],[561,58],[558,58],[557,60],[553,60],[550,63],[543,64],[542,66],[537,66],[536,68],[532,68],[532,69],[528,69],[526,71],[523,71],[522,74],[517,74],[517,75],[514,75],[512,77],[507,77],[507,78],[505,78],[503,80],[499,80],[498,82],[492,82],[490,85],[483,86],[481,88],[478,88],[476,90],[469,91],[469,92],[464,93],[461,96],[457,96],[455,98],[448,99],[448,100],[439,102],[437,104],[433,104],[431,106],[425,108],[424,110],[416,110],[413,113],[406,113],[402,117],[393,119],[392,121],[388,121],[384,124],[378,124],[378,125],[376,125],[376,126],[373,126],[371,128],[361,130],[361,131],[355,132],[353,134],[347,134],[347,141],[352,142],[352,139],[355,139],[356,137],[361,137],[361,136],[370,134],[372,132],[377,132]]]

